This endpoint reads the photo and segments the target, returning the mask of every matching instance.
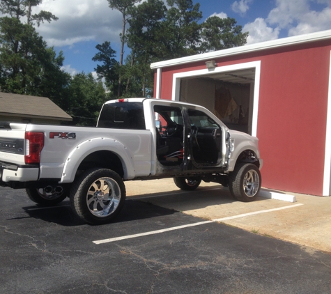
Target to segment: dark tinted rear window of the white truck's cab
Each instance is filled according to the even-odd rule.
[[[108,103],[102,107],[98,127],[146,130],[141,102]]]

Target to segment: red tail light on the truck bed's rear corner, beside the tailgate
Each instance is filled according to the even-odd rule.
[[[44,147],[43,132],[25,132],[25,163],[39,163],[40,153]]]

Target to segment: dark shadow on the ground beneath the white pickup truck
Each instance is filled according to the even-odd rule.
[[[261,197],[256,199],[256,201],[263,200],[265,199]],[[233,199],[228,189],[224,189],[220,185],[199,187],[190,192],[176,189],[168,192],[131,194],[131,196],[127,197],[121,213],[109,224],[153,219],[155,217],[174,215],[182,211],[197,210],[208,206],[221,206],[234,202],[238,201]],[[26,206],[22,209],[26,212],[26,217],[43,219],[45,222],[52,222],[61,226],[86,225],[72,212],[70,201],[68,200],[63,201],[58,206],[49,208],[35,205]]]

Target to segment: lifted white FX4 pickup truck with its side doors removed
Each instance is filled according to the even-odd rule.
[[[198,105],[111,100],[96,127],[0,123],[0,185],[24,188],[43,206],[68,196],[76,215],[91,224],[118,215],[125,180],[171,177],[186,190],[203,180],[253,201],[261,187],[258,141]]]

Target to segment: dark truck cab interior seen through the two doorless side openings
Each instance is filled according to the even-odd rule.
[[[196,164],[213,166],[222,160],[222,128],[203,111],[187,109],[187,132],[190,138],[185,146],[185,123],[178,107],[155,105],[157,118],[156,154],[164,166],[176,166],[183,162],[184,149]]]

